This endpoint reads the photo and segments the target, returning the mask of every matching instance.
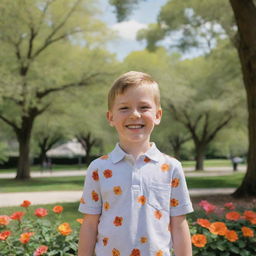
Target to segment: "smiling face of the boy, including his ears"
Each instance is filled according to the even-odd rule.
[[[107,119],[119,135],[121,145],[147,143],[155,125],[160,123],[162,110],[156,106],[153,89],[145,85],[131,87],[116,96]]]

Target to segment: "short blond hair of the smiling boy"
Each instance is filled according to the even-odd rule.
[[[108,109],[111,110],[115,98],[128,88],[147,85],[153,90],[156,106],[160,108],[160,91],[157,82],[147,73],[130,71],[118,77],[108,93]]]

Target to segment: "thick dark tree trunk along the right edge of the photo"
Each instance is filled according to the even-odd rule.
[[[238,26],[237,51],[247,95],[249,149],[247,172],[235,197],[256,196],[256,6],[252,0],[230,0]]]

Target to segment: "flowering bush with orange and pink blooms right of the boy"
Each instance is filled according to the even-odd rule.
[[[207,201],[199,205],[200,218],[190,221],[194,256],[252,256],[256,255],[256,213],[236,210],[233,203],[223,208]]]

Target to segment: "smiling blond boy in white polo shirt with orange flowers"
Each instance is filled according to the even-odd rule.
[[[79,256],[191,256],[185,214],[192,205],[181,164],[150,135],[161,121],[160,93],[141,72],[119,77],[107,119],[119,143],[88,167],[79,210],[85,214]]]

